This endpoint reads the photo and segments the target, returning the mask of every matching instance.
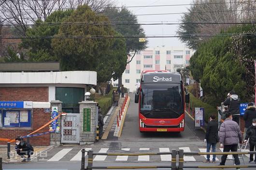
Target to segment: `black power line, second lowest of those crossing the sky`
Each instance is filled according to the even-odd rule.
[[[60,25],[65,25],[65,26],[70,26],[70,25],[76,25],[76,26],[118,26],[118,25],[146,25],[146,26],[156,26],[156,25],[213,25],[213,24],[230,24],[230,25],[235,25],[235,24],[256,24],[256,22],[185,22],[185,23],[110,23],[110,22],[103,22],[103,23],[98,23],[98,22],[46,22],[46,23],[37,23],[37,24],[5,24],[2,26],[60,26]]]

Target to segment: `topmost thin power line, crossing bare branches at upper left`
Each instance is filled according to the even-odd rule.
[[[250,1],[250,2],[256,2]],[[248,3],[248,1],[242,1],[242,2],[233,2],[233,3]],[[99,7],[99,9],[108,9],[108,8],[144,8],[144,7],[170,7],[170,6],[189,6],[189,5],[213,5],[213,4],[230,4],[230,2],[214,2],[214,3],[187,3],[187,4],[171,4],[171,5],[141,5],[141,6],[107,6],[107,7]],[[1,9],[2,11],[9,11],[8,9]],[[16,11],[28,11],[28,10],[34,10],[34,9],[12,9]],[[41,10],[41,9],[39,9]],[[48,8],[44,10],[60,10],[59,8]],[[62,8],[62,10],[74,10],[74,8]]]

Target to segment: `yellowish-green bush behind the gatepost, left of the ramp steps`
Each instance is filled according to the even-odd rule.
[[[112,91],[109,92],[106,96],[95,96],[95,102],[98,102],[100,107],[101,107],[101,111],[103,115],[106,115],[108,113],[109,108],[112,106],[113,104],[113,95],[112,95]]]

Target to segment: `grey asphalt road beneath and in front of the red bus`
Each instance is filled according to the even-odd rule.
[[[81,161],[71,161],[75,155],[77,155],[82,148],[91,148],[94,152],[100,152],[100,150],[106,150],[107,153],[113,152],[159,152],[160,149],[176,149],[181,147],[189,148],[191,151],[199,152],[199,149],[205,148],[206,144],[203,142],[204,132],[201,129],[193,128],[193,120],[186,115],[185,118],[185,131],[181,133],[141,133],[138,127],[138,104],[134,103],[134,95],[130,94],[131,101],[128,108],[123,133],[120,138],[108,138],[108,140],[100,140],[100,142],[90,145],[64,145],[56,147],[47,152],[47,157],[44,161],[29,162],[29,163],[12,163],[3,164],[4,170],[80,170]],[[219,146],[217,145],[217,148]],[[124,151],[122,149],[129,149]],[[63,155],[58,161],[47,161],[52,157],[55,157],[60,151],[68,149],[68,153]],[[145,157],[141,157],[145,159]],[[129,156],[126,161],[117,161],[115,156],[107,156],[102,161],[93,161],[93,166],[170,166],[171,158],[163,161],[163,157],[150,156],[146,157],[148,160],[140,160],[138,156]],[[220,159],[220,156],[218,156]],[[194,159],[194,162],[190,161]],[[186,161],[187,160],[187,161]],[[205,158],[203,156],[187,157],[185,165],[215,165],[203,163]],[[86,157],[87,161],[87,157]],[[245,157],[245,162],[248,161],[248,157]],[[228,160],[227,165],[232,165],[233,161]],[[85,163],[87,165],[87,162]],[[152,170],[152,169],[150,169]],[[168,169],[162,169],[168,170]],[[170,169],[169,169],[170,170]],[[192,170],[192,169],[185,169]],[[202,169],[196,169],[202,170]],[[213,170],[219,170],[218,168]],[[235,170],[229,169],[229,170]],[[242,170],[256,170],[256,168]]]

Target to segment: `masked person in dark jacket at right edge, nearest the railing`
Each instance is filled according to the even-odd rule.
[[[254,151],[254,149],[256,149],[256,118],[254,118],[252,122],[253,122],[252,126],[250,126],[248,128],[248,130],[246,131],[246,136],[245,136],[245,140],[244,140],[244,142],[246,143],[247,140],[250,138],[250,140],[249,140],[250,151]],[[253,160],[256,163],[256,156],[253,159],[253,154],[250,154],[249,162],[252,162]]]

